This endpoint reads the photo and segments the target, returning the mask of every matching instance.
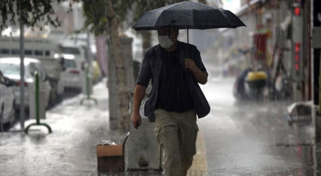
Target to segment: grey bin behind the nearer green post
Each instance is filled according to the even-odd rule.
[[[39,90],[39,119],[46,119],[45,91]],[[30,119],[36,119],[36,90],[29,91]]]

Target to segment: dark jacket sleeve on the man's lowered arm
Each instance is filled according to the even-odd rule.
[[[148,86],[148,83],[149,83],[149,80],[151,78],[151,69],[150,69],[150,65],[149,65],[149,62],[148,62],[148,51],[146,51],[144,53],[144,58],[141,62],[141,66],[140,66],[140,69],[139,69],[139,73],[138,73],[138,77],[137,77],[137,80],[136,80],[136,84],[138,85],[142,85],[142,86],[145,86],[147,87]]]

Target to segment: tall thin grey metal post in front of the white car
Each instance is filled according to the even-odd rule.
[[[21,4],[22,5],[22,4]],[[23,11],[20,8],[20,126],[25,129],[25,37]]]

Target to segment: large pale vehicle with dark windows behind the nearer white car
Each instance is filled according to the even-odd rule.
[[[30,31],[34,34],[38,32]],[[31,34],[31,33],[29,33]],[[62,100],[64,84],[62,81],[63,57],[59,52],[57,38],[29,36],[25,37],[25,56],[37,58],[44,65],[51,85],[50,105]],[[47,33],[48,34],[48,33]],[[20,57],[19,37],[0,37],[1,57]]]

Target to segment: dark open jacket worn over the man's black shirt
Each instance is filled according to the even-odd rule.
[[[185,58],[191,58],[198,67],[204,67],[200,51],[195,45],[178,41],[178,47],[179,59],[182,66],[185,63]],[[162,65],[162,49],[163,48],[157,44],[146,50],[136,81],[136,84],[148,86],[148,82],[151,79],[152,88],[147,95],[144,106],[144,115],[149,118],[150,122],[155,121],[154,110],[158,93],[159,73]],[[206,116],[210,112],[210,105],[192,71],[187,71],[187,82],[197,116],[199,118]]]

